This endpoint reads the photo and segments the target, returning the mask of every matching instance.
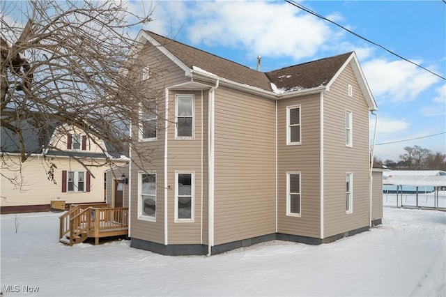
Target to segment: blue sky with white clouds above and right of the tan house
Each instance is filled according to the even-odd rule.
[[[388,50],[446,77],[446,3],[300,1]],[[446,81],[285,1],[156,1],[144,29],[261,70],[354,50],[378,103],[375,155],[397,161],[405,146],[446,153]],[[135,11],[150,2],[131,1]],[[374,122],[371,122],[374,124]],[[373,128],[374,125],[371,125]],[[425,137],[406,142],[405,139]],[[372,136],[372,134],[371,134]],[[393,144],[383,144],[396,142]]]

